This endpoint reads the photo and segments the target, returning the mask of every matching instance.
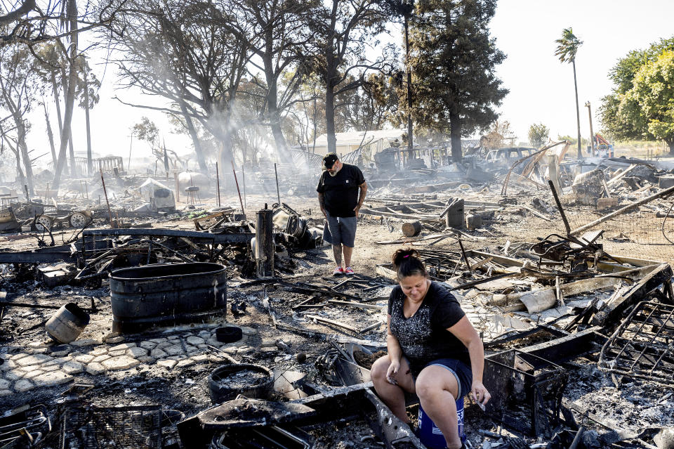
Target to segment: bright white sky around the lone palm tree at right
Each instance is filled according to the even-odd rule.
[[[611,92],[607,74],[630,50],[674,35],[671,0],[499,0],[491,33],[508,58],[498,76],[510,93],[501,105],[520,141],[527,141],[529,126],[543,123],[550,137],[576,136],[576,102],[571,64],[555,56],[555,39],[572,27],[583,45],[576,54],[581,136],[590,136],[588,108],[593,115],[600,100]],[[595,132],[600,130],[593,117]]]

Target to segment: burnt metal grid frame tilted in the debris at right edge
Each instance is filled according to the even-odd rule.
[[[674,387],[674,306],[637,304],[604,344],[599,367]]]

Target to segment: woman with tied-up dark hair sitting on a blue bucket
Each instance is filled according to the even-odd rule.
[[[399,286],[388,299],[388,355],[372,365],[374,388],[407,423],[404,392],[416,393],[447,448],[461,448],[456,399],[471,393],[486,404],[491,398],[482,385],[482,341],[456,298],[428,278],[414,249],[398,249],[393,265]]]

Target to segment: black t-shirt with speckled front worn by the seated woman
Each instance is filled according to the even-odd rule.
[[[465,315],[454,295],[431,282],[421,306],[409,318],[403,314],[404,300],[398,285],[388,298],[388,314],[391,334],[398,339],[412,374],[417,376],[427,363],[438,358],[454,358],[470,367],[468,348],[447,330]]]

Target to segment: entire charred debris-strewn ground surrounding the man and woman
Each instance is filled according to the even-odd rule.
[[[235,182],[8,191],[1,447],[425,447],[370,378],[401,246],[484,344],[466,445],[673,447],[674,171],[568,150],[344,155],[370,186],[352,277],[331,275],[309,153]]]

